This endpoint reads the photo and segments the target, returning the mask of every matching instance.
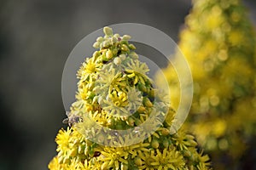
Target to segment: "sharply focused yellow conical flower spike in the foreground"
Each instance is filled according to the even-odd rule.
[[[70,127],[57,134],[49,169],[209,169],[193,136],[170,133],[175,111],[161,97],[166,94],[156,93],[131,37],[103,31],[78,71],[76,101],[65,121]]]

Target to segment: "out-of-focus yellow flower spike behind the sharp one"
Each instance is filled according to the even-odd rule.
[[[256,133],[255,45],[240,0],[193,1],[179,42],[194,79],[187,127],[212,150],[213,161],[236,165]],[[172,65],[165,73],[171,93],[177,94],[172,94],[176,108],[179,89]]]

